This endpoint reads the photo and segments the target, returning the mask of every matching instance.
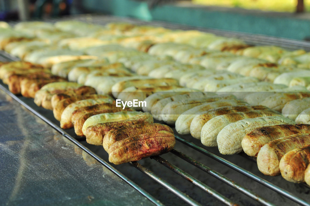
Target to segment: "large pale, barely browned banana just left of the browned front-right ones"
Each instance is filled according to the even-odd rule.
[[[283,116],[273,116],[242,119],[230,123],[217,135],[216,142],[219,152],[224,155],[239,153],[242,151],[241,141],[248,132],[257,128],[278,124],[295,124],[295,122]]]

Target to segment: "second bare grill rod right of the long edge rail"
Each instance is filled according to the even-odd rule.
[[[224,197],[223,195],[221,195],[220,193],[218,193],[217,191],[213,190],[212,188],[210,188],[209,186],[207,186],[206,184],[202,183],[201,181],[197,180],[195,177],[191,176],[190,174],[184,172],[183,170],[181,170],[180,168],[176,167],[175,165],[171,164],[170,162],[168,162],[166,159],[161,158],[160,156],[153,156],[151,157],[152,159],[155,159],[157,162],[161,163],[162,165],[164,165],[166,168],[172,170],[173,172],[177,173],[179,176],[183,177],[184,179],[186,179],[187,181],[193,183],[194,185],[196,185],[197,187],[199,187],[201,190],[204,190],[205,192],[209,193],[210,195],[214,196],[216,199],[218,199],[219,201],[223,202],[226,205],[230,205],[230,206],[237,206],[239,204],[233,203],[230,199],[228,199],[227,197]]]

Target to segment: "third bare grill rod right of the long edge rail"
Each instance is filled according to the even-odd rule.
[[[239,190],[240,192],[244,193],[245,195],[249,196],[252,199],[255,199],[256,201],[260,202],[263,205],[275,205],[269,202],[268,200],[260,197],[259,195],[255,194],[254,192],[251,192],[250,190],[246,189],[245,187],[239,185],[238,183],[232,181],[231,179],[225,177],[224,175],[214,171],[213,169],[210,169],[206,165],[202,164],[201,162],[198,162],[197,160],[189,157],[188,155],[185,155],[184,153],[178,151],[178,150],[171,150],[171,153],[178,156],[179,158],[187,161],[188,163],[191,163],[192,165],[196,166],[197,168],[201,169],[202,171],[212,175],[216,179],[226,183],[227,185],[235,188],[236,190]]]

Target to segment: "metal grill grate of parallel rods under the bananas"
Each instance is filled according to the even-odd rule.
[[[275,38],[275,37],[267,37],[263,35],[250,35],[250,34],[244,34],[244,33],[236,33],[236,32],[228,32],[228,31],[220,31],[220,30],[212,30],[212,29],[202,29],[202,28],[197,28],[197,27],[190,27],[190,26],[184,26],[184,25],[171,25],[165,22],[158,22],[158,21],[153,21],[153,22],[145,22],[145,21],[140,21],[140,20],[133,20],[130,18],[119,18],[119,17],[114,17],[114,16],[102,16],[102,15],[79,15],[79,16],[69,16],[69,17],[64,17],[61,19],[46,19],[46,21],[49,22],[55,22],[58,20],[80,20],[84,22],[89,22],[89,23],[94,23],[94,24],[100,24],[104,25],[108,22],[115,22],[115,21],[125,21],[129,23],[134,23],[134,24],[139,24],[139,25],[155,25],[155,26],[163,26],[166,28],[171,28],[171,29],[198,29],[201,31],[206,31],[206,32],[211,32],[217,35],[221,36],[226,36],[226,37],[234,37],[234,38],[242,38],[245,40],[247,43],[250,44],[273,44],[276,46],[281,46],[285,48],[290,48],[290,49],[305,49],[310,51],[310,43],[304,42],[304,41],[297,41],[297,40],[291,40],[291,39],[284,39],[284,38]],[[11,22],[11,24],[15,24],[16,22]],[[19,60],[15,56],[11,56],[5,52],[0,52],[0,60],[3,61],[11,61],[11,60]],[[88,149],[86,146],[84,146],[80,141],[76,139],[73,135],[69,134],[68,132],[64,131],[61,129],[58,125],[56,125],[50,118],[47,118],[46,116],[42,115],[40,112],[38,112],[37,108],[32,107],[28,104],[27,101],[24,101],[22,98],[13,95],[9,90],[7,89],[7,86],[3,85],[2,83],[0,84],[0,88],[7,92],[11,97],[13,97],[16,101],[20,102],[20,104],[24,105],[27,109],[29,109],[31,112],[34,114],[38,115],[41,119],[43,119],[45,122],[50,124],[53,128],[55,128],[58,132],[60,132],[64,137],[68,138],[70,141],[75,143],[77,146],[82,148],[84,151],[86,151],[88,154],[90,154],[92,157],[94,157],[96,160],[98,160],[102,165],[104,165],[106,168],[110,169],[112,172],[117,174],[120,178],[122,178],[124,181],[126,181],[128,184],[130,184],[132,187],[137,189],[140,193],[142,193],[146,198],[151,200],[154,204],[156,205],[163,205],[159,200],[154,198],[152,195],[148,194],[144,189],[142,189],[138,184],[135,182],[131,181],[128,177],[126,177],[124,174],[119,172],[116,168],[111,166],[109,163],[107,163],[104,159],[100,158],[100,156],[96,155],[94,151]],[[196,145],[193,142],[190,142],[183,137],[179,137],[175,135],[175,138],[177,141],[181,142],[185,146],[191,147],[194,150],[197,150],[201,154],[216,160],[217,162],[227,166],[228,168],[231,168],[242,175],[259,182],[261,185],[277,192],[280,195],[283,195],[284,197],[294,201],[295,203],[298,203],[299,205],[305,205],[305,206],[310,206],[310,203],[307,201],[299,198],[298,196],[290,193],[289,191],[284,190],[283,188],[276,186],[275,184],[249,172],[248,170],[222,158],[219,157],[218,155]],[[180,159],[183,159],[184,161],[194,165],[195,167],[199,168],[203,172],[206,172],[207,174],[210,174],[211,176],[217,178],[218,180],[224,182],[228,186],[231,186],[232,188],[240,191],[241,193],[249,196],[250,198],[256,200],[258,203],[262,205],[274,205],[268,200],[260,197],[259,195],[255,194],[251,190],[241,186],[240,184],[234,182],[232,179],[229,179],[228,177],[225,177],[224,175],[216,172],[215,170],[207,167],[203,163],[189,157],[188,155],[179,152],[176,149],[173,149],[170,154],[174,154]],[[188,180],[191,182],[193,185],[197,186],[204,192],[212,195],[215,199],[218,199],[220,202],[226,205],[238,205],[229,198],[225,197],[224,195],[220,194],[216,190],[212,189],[211,187],[207,186],[205,183],[202,181],[199,181],[197,178],[193,177],[189,173],[183,171],[182,169],[178,168],[177,166],[173,165],[166,159],[163,159],[160,156],[154,156],[152,157],[155,161],[158,163],[162,164],[166,168],[169,168],[171,171],[177,173],[179,176],[183,177],[184,179]],[[193,198],[189,197],[186,193],[182,192],[181,190],[177,189],[175,186],[172,184],[168,183],[167,181],[163,180],[161,177],[157,176],[153,171],[150,169],[144,167],[138,162],[131,162],[130,163],[134,168],[137,168],[139,171],[143,172],[145,175],[156,181],[158,184],[161,186],[165,187],[167,190],[169,190],[171,193],[182,199],[185,203],[189,205],[201,205],[198,203],[196,200]],[[308,186],[307,186],[308,187]],[[309,188],[309,187],[308,187]]]

